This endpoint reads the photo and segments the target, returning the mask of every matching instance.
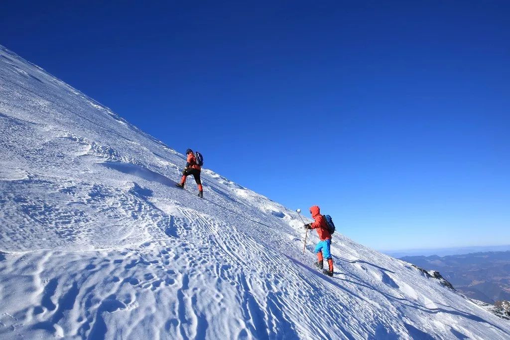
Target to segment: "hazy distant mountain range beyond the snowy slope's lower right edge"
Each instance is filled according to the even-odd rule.
[[[510,251],[400,258],[426,270],[437,270],[455,289],[487,303],[510,300]]]

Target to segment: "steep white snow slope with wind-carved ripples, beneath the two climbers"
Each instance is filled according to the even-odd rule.
[[[209,169],[176,188],[182,154],[3,47],[0,131],[2,339],[510,338],[342,226],[318,273],[295,212]]]

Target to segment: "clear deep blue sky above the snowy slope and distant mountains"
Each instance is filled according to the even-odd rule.
[[[367,246],[510,243],[510,2],[149,3],[3,2],[0,44]]]

